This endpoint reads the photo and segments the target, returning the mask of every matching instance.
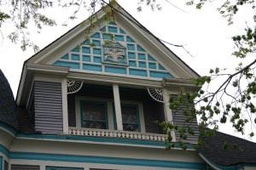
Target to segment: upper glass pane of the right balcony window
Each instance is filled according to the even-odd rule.
[[[124,123],[138,123],[137,120],[137,106],[135,105],[121,105],[122,120]]]

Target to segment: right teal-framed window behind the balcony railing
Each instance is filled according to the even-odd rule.
[[[137,105],[121,104],[123,130],[141,132]]]

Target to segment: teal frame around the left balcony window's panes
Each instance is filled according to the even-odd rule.
[[[104,105],[104,109],[105,109],[105,121],[102,120],[86,120],[84,119],[84,110],[83,110],[83,104],[86,105],[86,103],[90,103],[90,104],[100,104],[100,105]],[[81,116],[81,125],[83,126],[83,122],[105,122],[106,123],[106,129],[108,129],[108,108],[107,108],[107,103],[106,102],[100,102],[100,101],[90,101],[90,100],[81,100],[80,101],[80,116]]]

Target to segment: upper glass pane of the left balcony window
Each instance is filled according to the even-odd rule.
[[[105,105],[101,103],[83,102],[83,118],[91,121],[105,121]]]

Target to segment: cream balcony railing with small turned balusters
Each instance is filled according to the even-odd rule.
[[[96,137],[108,137],[108,138],[119,138],[119,139],[140,139],[140,140],[153,140],[153,141],[165,141],[167,138],[166,134],[157,133],[139,133],[129,131],[118,131],[118,130],[105,130],[96,128],[79,128],[79,127],[68,127],[68,133],[72,135],[80,136],[96,136]]]

